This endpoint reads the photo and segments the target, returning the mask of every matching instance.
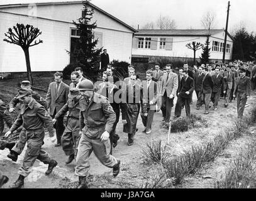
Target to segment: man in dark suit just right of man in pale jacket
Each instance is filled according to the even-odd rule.
[[[187,70],[183,71],[183,77],[181,79],[181,85],[178,89],[178,99],[175,106],[174,117],[181,116],[181,107],[185,104],[186,115],[190,116],[190,94],[194,90],[194,80],[189,77]]]

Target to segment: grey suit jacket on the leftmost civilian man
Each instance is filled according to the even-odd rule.
[[[51,82],[46,95],[47,108],[50,107],[50,115],[52,116],[55,109],[57,113],[69,99],[69,86],[64,82],[61,82],[58,94],[56,94],[56,85],[56,82]]]

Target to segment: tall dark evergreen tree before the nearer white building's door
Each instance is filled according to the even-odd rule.
[[[91,23],[94,9],[89,8],[88,1],[84,1],[83,5],[82,17],[78,19],[78,23],[73,21],[79,31],[80,38],[75,45],[72,57],[75,58],[75,66],[81,67],[87,77],[95,81],[97,79],[97,73],[99,72],[99,57],[102,47],[96,48],[98,40],[97,38],[94,40],[93,30],[97,27],[96,21]]]

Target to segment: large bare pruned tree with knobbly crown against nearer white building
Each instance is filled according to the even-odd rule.
[[[22,50],[25,53],[26,58],[26,71],[28,75],[28,80],[30,83],[33,84],[32,73],[31,73],[31,66],[30,66],[30,53],[28,49],[30,46],[38,45],[39,43],[43,43],[42,40],[36,41],[35,39],[42,34],[42,31],[38,30],[34,26],[30,24],[19,24],[17,23],[16,26],[8,29],[7,33],[4,35],[7,38],[4,38],[4,41],[21,46]],[[33,43],[34,41],[34,43]]]

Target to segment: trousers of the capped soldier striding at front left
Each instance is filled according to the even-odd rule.
[[[18,174],[23,175],[23,177],[27,177],[30,174],[31,168],[35,163],[35,160],[38,159],[45,164],[50,163],[50,156],[48,153],[43,150],[43,138],[45,138],[45,130],[37,129],[37,130],[26,130],[26,138],[27,138],[27,149],[23,159],[23,166],[19,168]]]

